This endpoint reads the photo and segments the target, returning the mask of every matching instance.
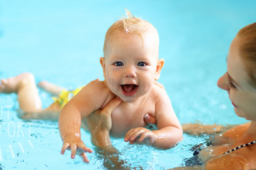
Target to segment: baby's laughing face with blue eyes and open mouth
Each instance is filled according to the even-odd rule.
[[[156,78],[158,40],[151,31],[143,37],[142,46],[138,35],[116,30],[108,41],[105,58],[102,58],[108,88],[125,102],[134,102],[147,94]]]

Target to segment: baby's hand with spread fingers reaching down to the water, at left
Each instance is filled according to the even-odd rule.
[[[72,138],[68,140],[64,140],[61,154],[64,154],[65,150],[71,150],[71,158],[75,158],[75,154],[80,155],[84,162],[89,163],[90,161],[87,158],[87,155],[85,152],[92,153],[92,149],[86,147],[83,143],[83,141],[79,138]]]

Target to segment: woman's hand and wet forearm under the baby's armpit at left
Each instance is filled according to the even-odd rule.
[[[104,109],[99,109],[86,117],[87,128],[91,133],[91,140],[96,146],[99,158],[103,158],[103,165],[107,169],[123,169],[124,160],[120,159],[118,150],[112,146],[109,131],[112,127],[111,113],[119,106],[121,99],[112,99]]]

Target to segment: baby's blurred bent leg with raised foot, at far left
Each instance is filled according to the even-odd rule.
[[[20,109],[24,112],[24,119],[58,119],[60,106],[53,103],[42,109],[42,102],[31,73],[22,73],[14,77],[1,80],[0,93],[16,93]]]

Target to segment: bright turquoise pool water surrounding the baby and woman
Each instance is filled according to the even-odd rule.
[[[48,80],[70,89],[103,80],[99,57],[104,35],[124,8],[158,30],[159,56],[165,59],[159,82],[180,123],[246,122],[235,116],[227,93],[216,82],[226,71],[226,55],[237,31],[256,21],[256,1],[0,0],[0,78],[32,72],[36,82]],[[48,106],[50,95],[39,92]],[[89,154],[90,164],[71,160],[70,152],[61,155],[57,123],[17,118],[15,94],[0,94],[0,107],[0,168],[103,168],[95,154]],[[166,151],[131,146],[122,139],[112,143],[136,168],[168,169],[183,166],[182,160],[192,155],[191,146],[207,138],[184,134],[177,147]],[[88,133],[82,131],[82,139],[93,148]]]

